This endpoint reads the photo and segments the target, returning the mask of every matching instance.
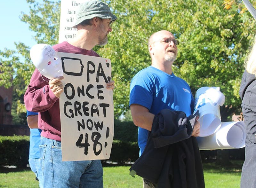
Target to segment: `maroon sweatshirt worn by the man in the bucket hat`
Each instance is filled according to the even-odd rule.
[[[62,42],[52,46],[55,51],[76,53],[100,57],[93,50],[77,48],[68,42]],[[35,69],[31,76],[28,89],[24,95],[26,109],[31,112],[38,112],[38,127],[42,129],[41,136],[61,141],[60,130],[60,100],[55,97],[49,88],[49,79],[42,76]]]

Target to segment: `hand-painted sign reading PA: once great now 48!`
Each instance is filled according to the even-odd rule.
[[[60,96],[62,161],[109,159],[114,137],[110,59],[57,52],[63,67]]]

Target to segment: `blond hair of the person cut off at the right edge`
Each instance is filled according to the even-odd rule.
[[[254,38],[252,49],[247,58],[245,59],[244,67],[248,73],[256,75],[256,35]]]

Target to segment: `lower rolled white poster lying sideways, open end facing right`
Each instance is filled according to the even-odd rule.
[[[197,137],[197,142],[200,150],[238,149],[245,147],[245,138],[244,121],[230,121],[208,137]]]

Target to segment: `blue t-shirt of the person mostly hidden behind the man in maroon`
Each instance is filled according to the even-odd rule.
[[[27,117],[29,115],[37,115],[37,112],[30,112],[27,110]],[[40,158],[40,134],[42,130],[41,129],[30,129],[30,143],[29,143],[29,156],[28,158]]]

